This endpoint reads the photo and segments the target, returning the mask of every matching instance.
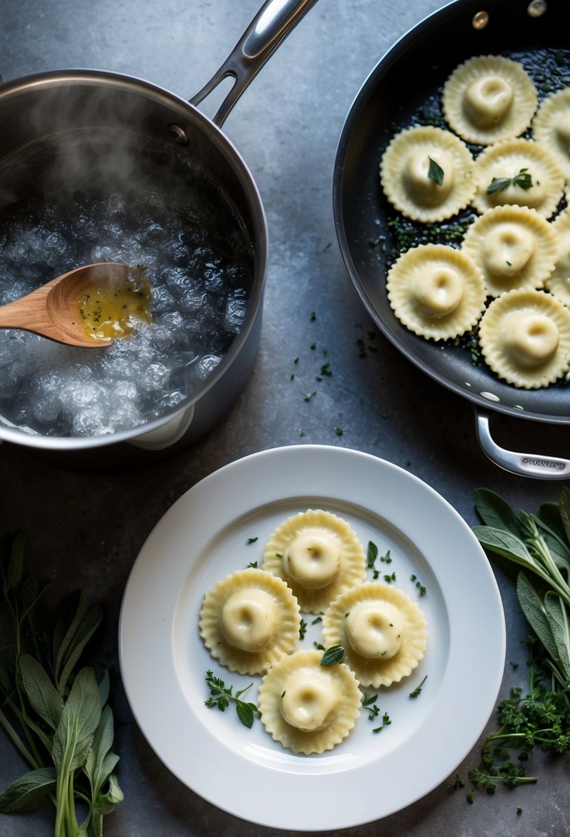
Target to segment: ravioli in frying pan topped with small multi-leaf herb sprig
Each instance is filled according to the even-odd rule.
[[[550,151],[532,140],[504,140],[489,146],[476,160],[478,188],[473,198],[477,212],[515,203],[536,209],[545,218],[556,212],[564,193],[564,176]],[[532,186],[519,185],[518,175],[530,175]],[[505,188],[487,193],[493,178],[511,181]]]

